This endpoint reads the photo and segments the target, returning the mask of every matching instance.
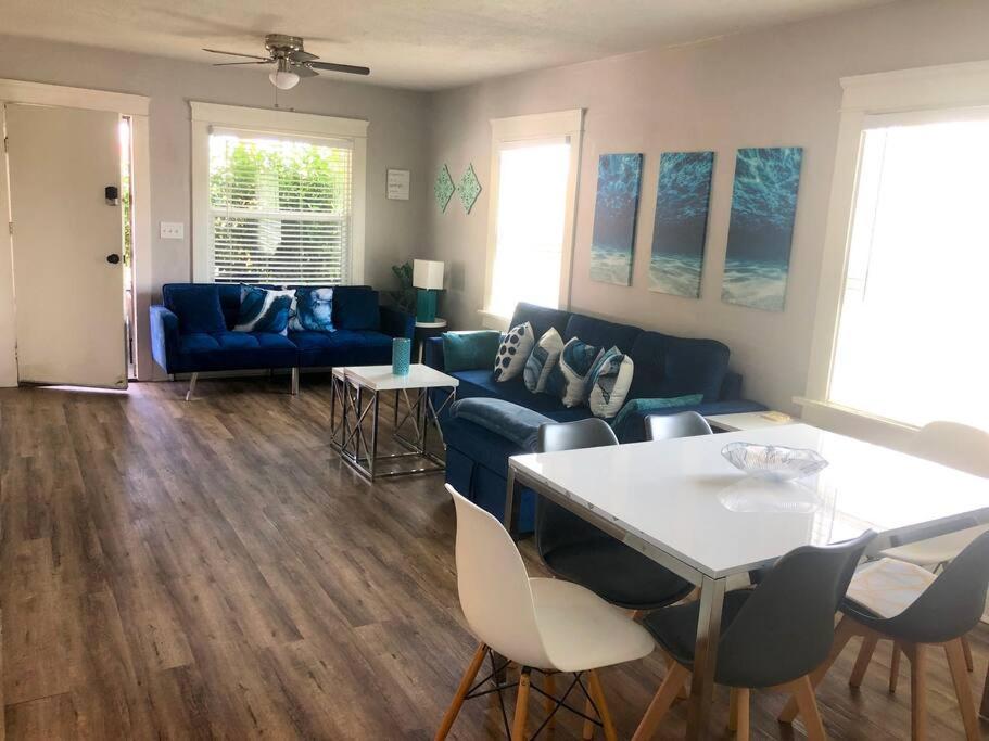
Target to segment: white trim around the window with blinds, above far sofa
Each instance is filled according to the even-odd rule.
[[[210,248],[210,130],[216,126],[288,136],[345,139],[351,142],[351,189],[354,201],[347,282],[352,285],[364,283],[368,122],[196,101],[190,101],[189,106],[192,110],[192,280],[198,283],[213,282],[213,251]]]

